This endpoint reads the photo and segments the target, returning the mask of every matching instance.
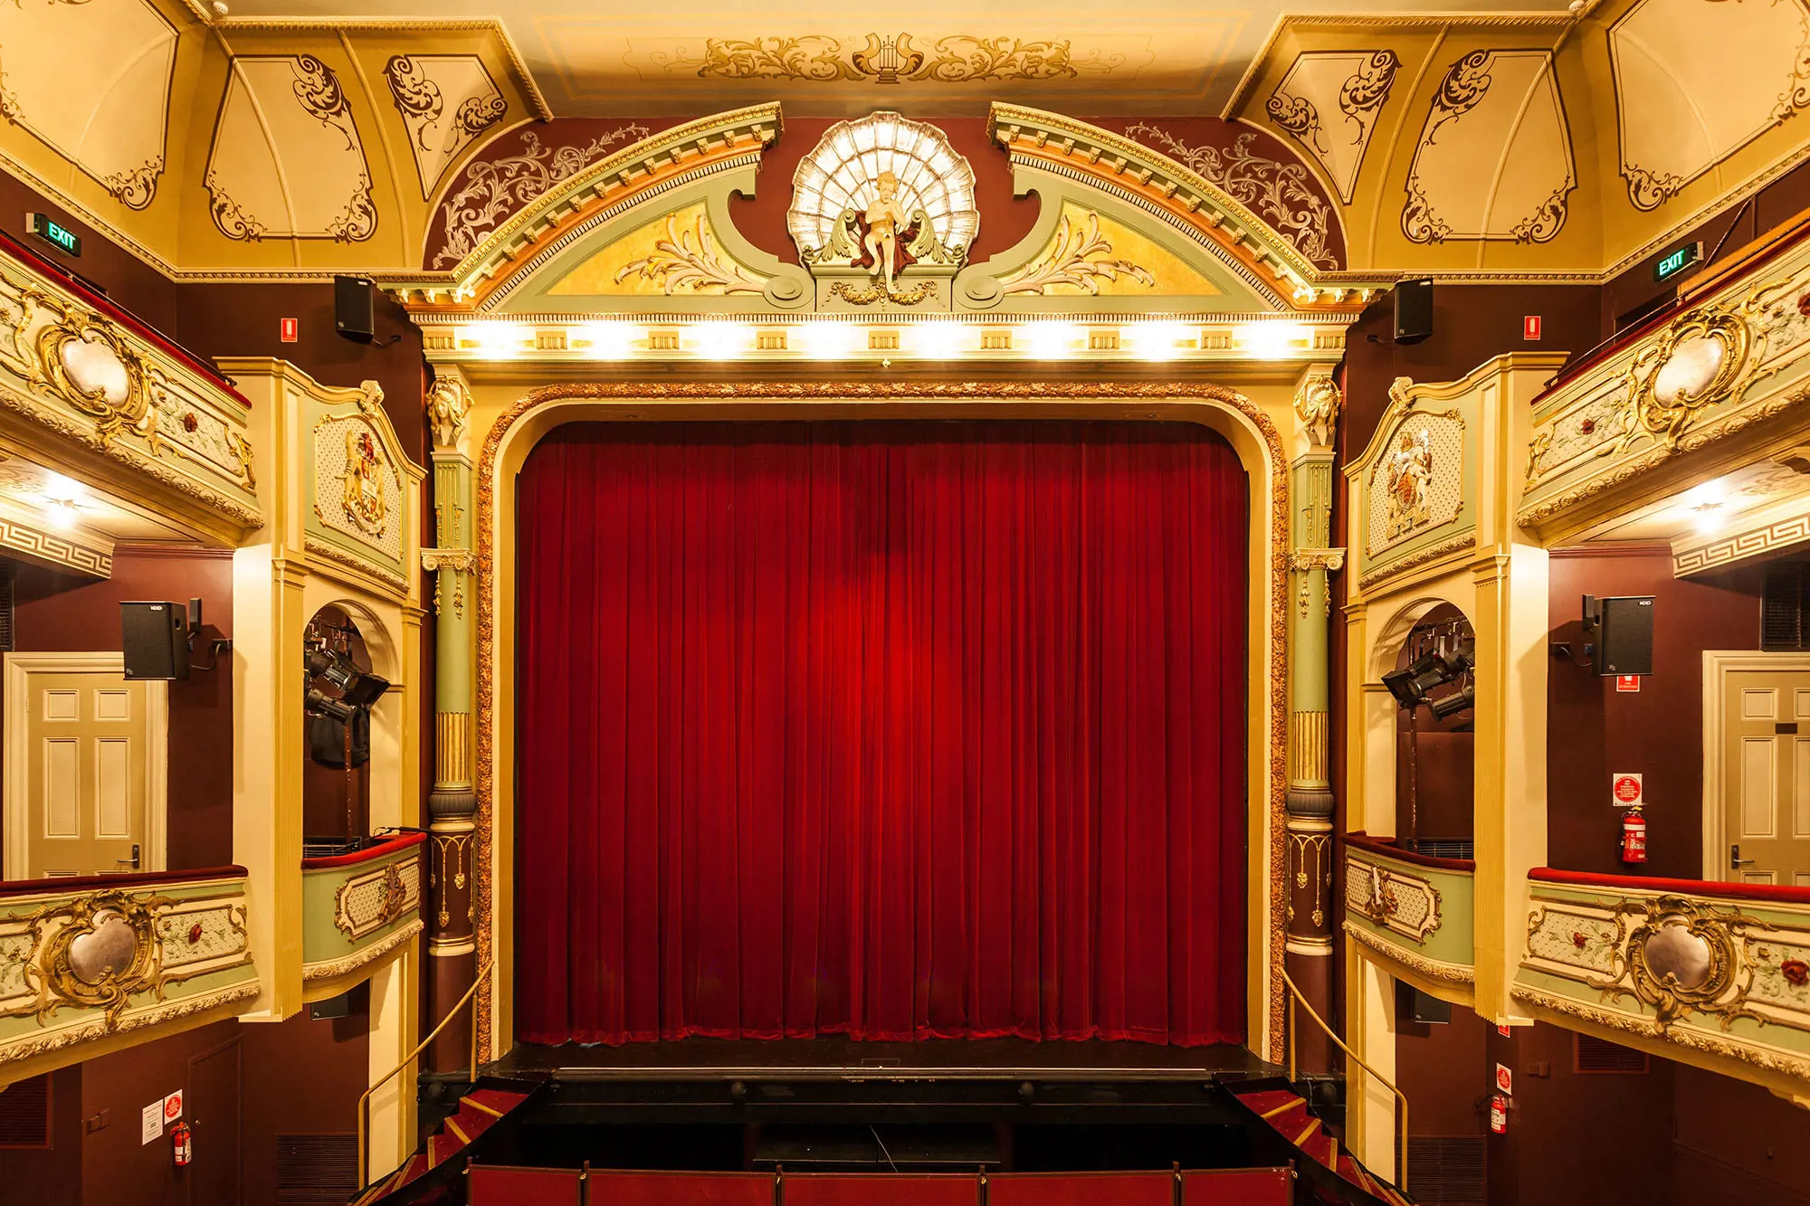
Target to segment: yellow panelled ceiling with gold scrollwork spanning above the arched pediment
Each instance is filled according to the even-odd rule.
[[[494,7],[0,5],[0,167],[177,277],[418,275],[686,120],[954,132],[1005,103],[1122,114],[1088,120],[1227,181],[1321,268],[1481,281],[1602,279],[1810,150],[1810,0],[930,4],[892,33],[829,4]]]

